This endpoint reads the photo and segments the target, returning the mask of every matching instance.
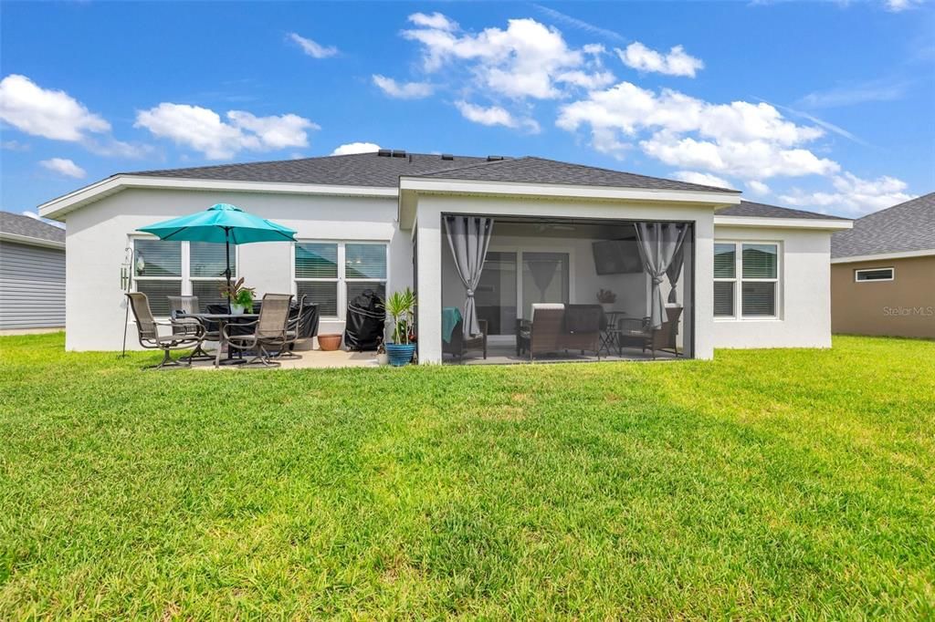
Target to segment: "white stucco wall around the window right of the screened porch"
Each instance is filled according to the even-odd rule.
[[[714,347],[830,347],[830,233],[755,227],[714,228],[714,240],[778,242],[778,317],[713,320]],[[712,290],[698,277],[698,288]]]

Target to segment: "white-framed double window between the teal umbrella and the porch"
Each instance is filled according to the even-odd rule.
[[[295,296],[309,296],[322,318],[344,319],[365,290],[386,298],[389,246],[385,242],[295,243]]]

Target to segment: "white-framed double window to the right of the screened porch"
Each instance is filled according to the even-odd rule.
[[[714,317],[779,317],[779,244],[714,243]]]

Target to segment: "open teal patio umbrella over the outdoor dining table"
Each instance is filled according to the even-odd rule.
[[[149,227],[137,229],[152,233],[161,240],[179,242],[223,242],[227,269],[227,285],[231,283],[231,245],[251,242],[293,242],[295,231],[272,220],[261,219],[243,211],[236,205],[219,203],[203,212],[178,219],[163,220]]]

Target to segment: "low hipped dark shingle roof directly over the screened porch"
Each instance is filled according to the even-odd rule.
[[[575,186],[611,186],[616,188],[642,188],[648,190],[687,190],[736,192],[724,188],[690,184],[685,181],[646,177],[634,173],[614,171],[609,168],[585,166],[546,160],[545,158],[525,158],[503,160],[465,166],[437,173],[427,173],[421,177],[441,179],[466,179],[476,181],[515,181],[532,184],[566,184]]]

